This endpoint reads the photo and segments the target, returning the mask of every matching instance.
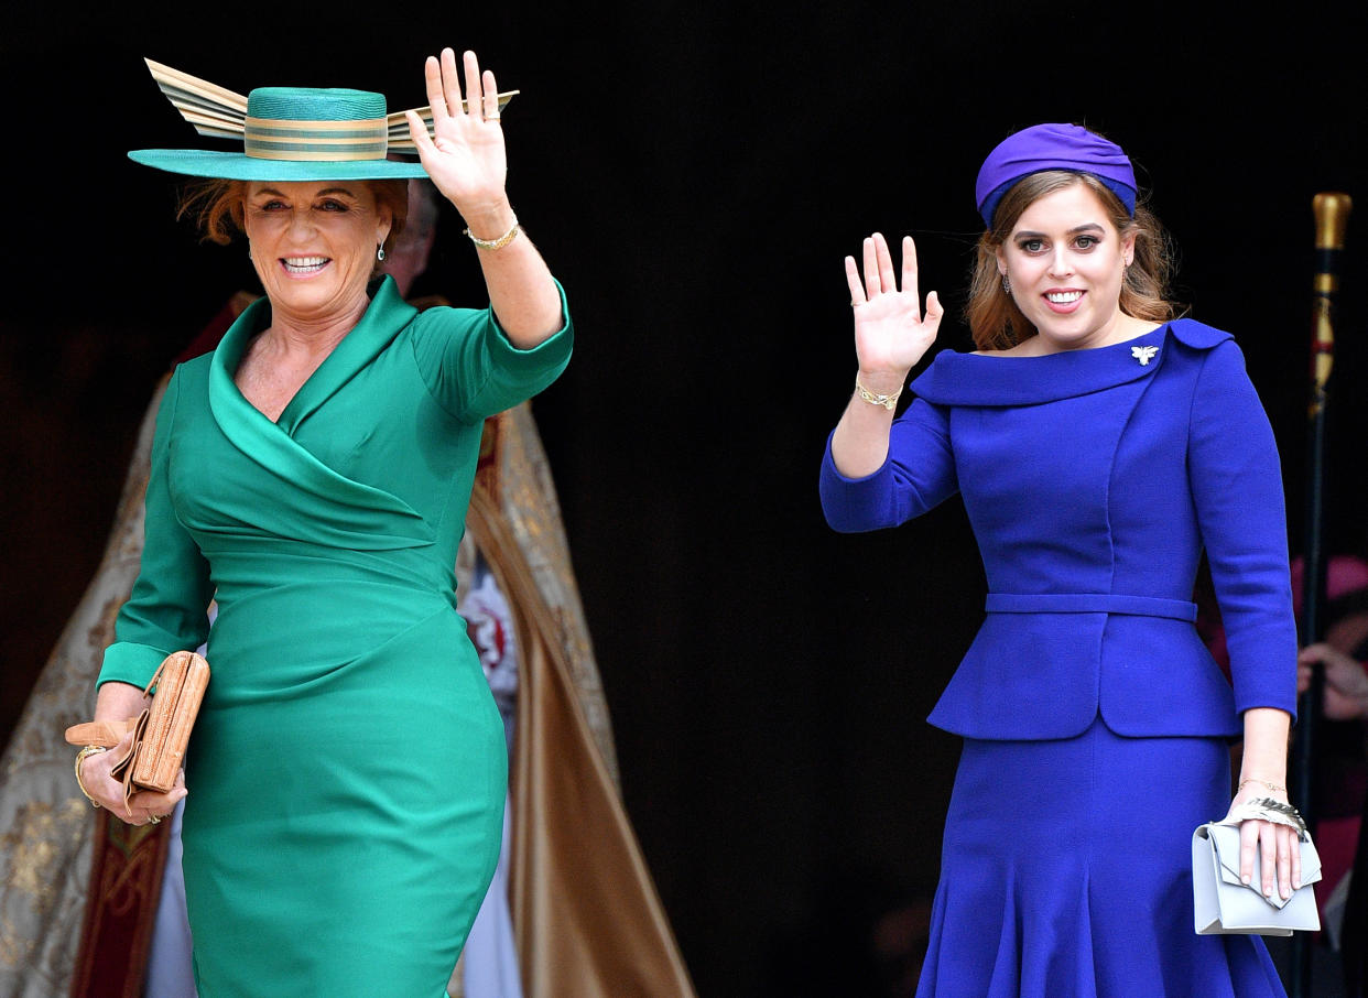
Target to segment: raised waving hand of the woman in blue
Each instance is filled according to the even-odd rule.
[[[855,353],[860,375],[902,386],[907,372],[936,341],[945,309],[936,292],[926,296],[926,315],[917,290],[917,245],[903,237],[903,286],[899,290],[893,255],[880,233],[865,240],[865,275],[855,257],[845,257],[845,281],[855,312]],[[869,385],[874,390],[889,390]]]

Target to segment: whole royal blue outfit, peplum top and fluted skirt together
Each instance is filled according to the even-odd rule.
[[[986,619],[930,721],[964,737],[919,998],[1264,998],[1257,936],[1193,928],[1193,830],[1241,712],[1295,706],[1278,453],[1230,334],[1181,319],[1041,357],[940,353],[828,522],[962,493]],[[1193,627],[1205,548],[1234,687]]]

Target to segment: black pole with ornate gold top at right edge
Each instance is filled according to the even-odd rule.
[[[1306,534],[1302,548],[1301,643],[1311,645],[1323,637],[1321,608],[1326,601],[1324,487],[1326,487],[1326,383],[1335,360],[1334,305],[1339,292],[1339,256],[1345,245],[1345,226],[1353,201],[1349,194],[1320,193],[1312,199],[1316,215],[1316,275],[1312,282],[1311,334],[1311,409],[1306,439]],[[1320,665],[1312,669],[1311,687],[1297,705],[1295,764],[1293,769],[1293,805],[1306,824],[1315,828],[1316,801],[1312,783],[1316,758],[1316,730],[1326,675]],[[1291,987],[1289,998],[1311,998],[1311,942],[1305,932],[1291,941]]]

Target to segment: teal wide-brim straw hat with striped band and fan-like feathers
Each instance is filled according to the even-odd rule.
[[[201,136],[237,138],[242,152],[134,149],[134,163],[228,181],[365,181],[427,177],[404,111],[386,114],[384,94],[311,86],[260,86],[246,97],[170,66],[145,60],[161,93]],[[499,108],[516,94],[498,94]],[[464,101],[462,101],[464,104]],[[432,110],[415,108],[432,133]]]

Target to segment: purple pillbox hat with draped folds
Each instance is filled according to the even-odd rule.
[[[978,170],[974,201],[989,229],[1003,194],[1041,170],[1092,174],[1135,215],[1135,171],[1119,145],[1078,125],[1034,125],[999,142]]]

